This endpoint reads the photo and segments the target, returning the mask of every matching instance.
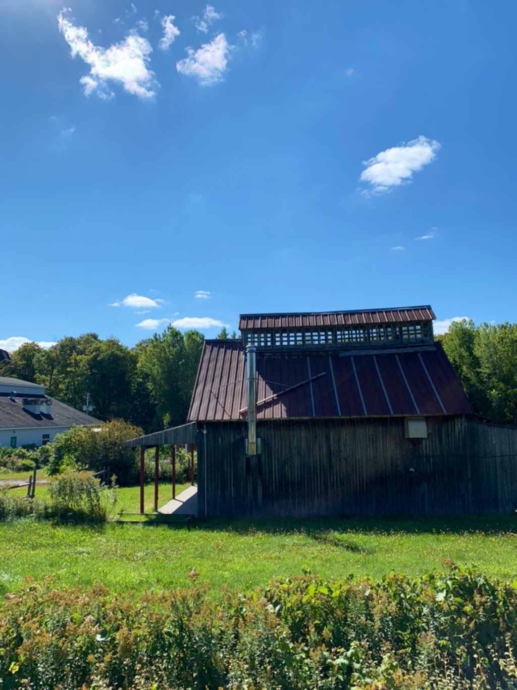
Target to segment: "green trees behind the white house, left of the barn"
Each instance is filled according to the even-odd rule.
[[[203,342],[198,331],[172,326],[132,348],[85,333],[48,350],[26,343],[1,373],[43,384],[47,395],[79,410],[89,393],[97,419],[122,419],[150,433],[185,423]]]

